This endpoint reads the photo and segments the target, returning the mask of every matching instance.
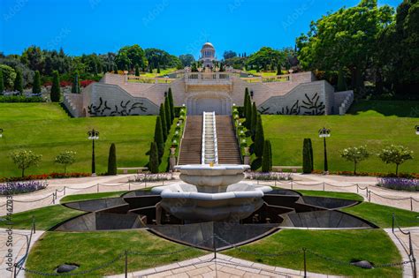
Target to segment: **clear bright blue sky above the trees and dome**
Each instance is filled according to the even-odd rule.
[[[70,55],[117,52],[125,45],[198,56],[211,41],[252,53],[293,46],[311,20],[360,0],[0,0],[0,51],[30,45]],[[378,0],[397,7],[401,0]]]

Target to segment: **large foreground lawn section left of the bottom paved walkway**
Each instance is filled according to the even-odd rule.
[[[27,259],[27,268],[46,273],[53,273],[60,264],[80,265],[75,270],[81,272],[103,265],[116,258],[125,250],[133,252],[157,253],[175,252],[186,248],[163,238],[156,237],[145,230],[110,231],[110,232],[47,232],[34,244]],[[186,251],[165,256],[129,255],[128,271],[157,267],[184,259],[194,258],[205,252],[190,248]],[[83,277],[97,277],[104,274],[124,273],[124,257],[110,267],[86,274]],[[35,275],[28,274],[28,277]]]

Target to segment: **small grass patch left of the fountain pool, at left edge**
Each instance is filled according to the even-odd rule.
[[[56,226],[58,223],[64,222],[65,220],[80,214],[84,214],[84,212],[61,205],[55,205],[13,214],[11,221],[16,222],[13,225],[14,229],[31,229],[32,216],[34,216],[36,229],[47,230]],[[4,222],[0,222],[0,227],[6,227]]]

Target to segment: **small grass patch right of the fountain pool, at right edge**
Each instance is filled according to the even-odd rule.
[[[380,228],[392,227],[392,214],[396,215],[400,227],[419,226],[419,213],[408,210],[386,207],[373,203],[363,202],[354,207],[343,208],[342,211],[354,214],[376,224]]]

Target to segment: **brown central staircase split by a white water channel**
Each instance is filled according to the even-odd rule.
[[[211,113],[212,114],[212,113]],[[212,115],[205,113],[208,123],[207,134],[211,130],[213,124]],[[187,116],[187,124],[185,127],[185,134],[182,139],[179,165],[186,164],[201,164],[202,163],[202,116]],[[232,124],[232,116],[216,116],[215,126],[217,132],[217,158],[219,164],[241,164],[240,147],[236,139],[234,126]],[[205,133],[205,132],[204,132]],[[211,135],[206,140],[213,139]],[[209,143],[209,142],[206,142]],[[206,150],[209,154],[210,149],[213,149],[210,144],[206,144]],[[213,149],[214,151],[214,149]],[[207,154],[207,155],[208,155]],[[207,156],[206,155],[206,156]],[[215,162],[215,157],[212,155],[204,157],[205,163]]]

